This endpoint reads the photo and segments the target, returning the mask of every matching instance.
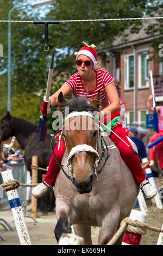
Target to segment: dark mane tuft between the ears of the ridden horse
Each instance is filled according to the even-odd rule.
[[[94,112],[98,111],[98,108],[90,104],[90,101],[85,97],[72,97],[71,99],[66,99],[66,102],[61,104],[60,111],[64,113],[65,107],[69,108],[69,113],[73,111],[87,111]]]

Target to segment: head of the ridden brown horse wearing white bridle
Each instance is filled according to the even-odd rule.
[[[83,97],[65,100],[62,93],[58,97],[59,109],[68,107],[62,135],[66,140],[68,167],[72,172],[72,182],[79,193],[89,193],[92,190],[95,166],[98,162],[97,145],[99,142],[99,127],[95,121],[100,95],[90,104]]]

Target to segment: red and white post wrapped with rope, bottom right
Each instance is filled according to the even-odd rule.
[[[129,220],[146,223],[147,217],[148,217],[148,214],[145,214],[145,212],[131,210]],[[143,230],[142,228],[133,227],[132,225],[128,225],[128,227],[131,227],[132,229],[135,229],[135,230]],[[135,233],[125,231],[124,236],[123,236],[122,245],[139,245],[141,236],[142,235],[140,235],[140,234],[135,234]]]

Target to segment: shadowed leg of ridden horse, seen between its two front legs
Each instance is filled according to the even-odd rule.
[[[91,226],[82,224],[73,224],[74,233],[84,238],[84,245],[92,245]]]

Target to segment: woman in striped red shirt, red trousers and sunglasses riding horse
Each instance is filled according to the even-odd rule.
[[[114,130],[114,133],[111,132],[110,138],[112,142],[116,144],[122,159],[127,163],[129,169],[134,175],[136,183],[140,185],[145,196],[150,199],[153,198],[157,192],[146,180],[139,157],[123,142],[125,141],[130,147],[132,147],[122,128],[122,120],[120,118],[121,104],[117,89],[113,82],[114,78],[108,71],[96,68],[97,53],[95,45],[92,44],[89,46],[84,43],[84,47],[80,48],[77,53],[76,65],[78,72],[72,75],[70,79],[67,80],[61,88],[51,96],[52,107],[57,105],[58,95],[60,92],[62,92],[64,96],[71,92],[73,97],[83,96],[86,97],[86,99],[91,100],[98,94],[98,90],[100,90],[102,117],[107,117],[108,112],[111,114],[111,121],[109,124],[106,124]],[[121,137],[123,141],[118,138],[115,133]],[[65,153],[65,144],[62,143],[62,147],[58,148],[57,144],[54,153],[58,162],[61,163],[62,156]],[[54,186],[55,179],[60,170],[60,166],[56,163],[57,161],[52,155],[44,181],[32,190],[32,194],[35,198],[42,197],[43,194]]]

